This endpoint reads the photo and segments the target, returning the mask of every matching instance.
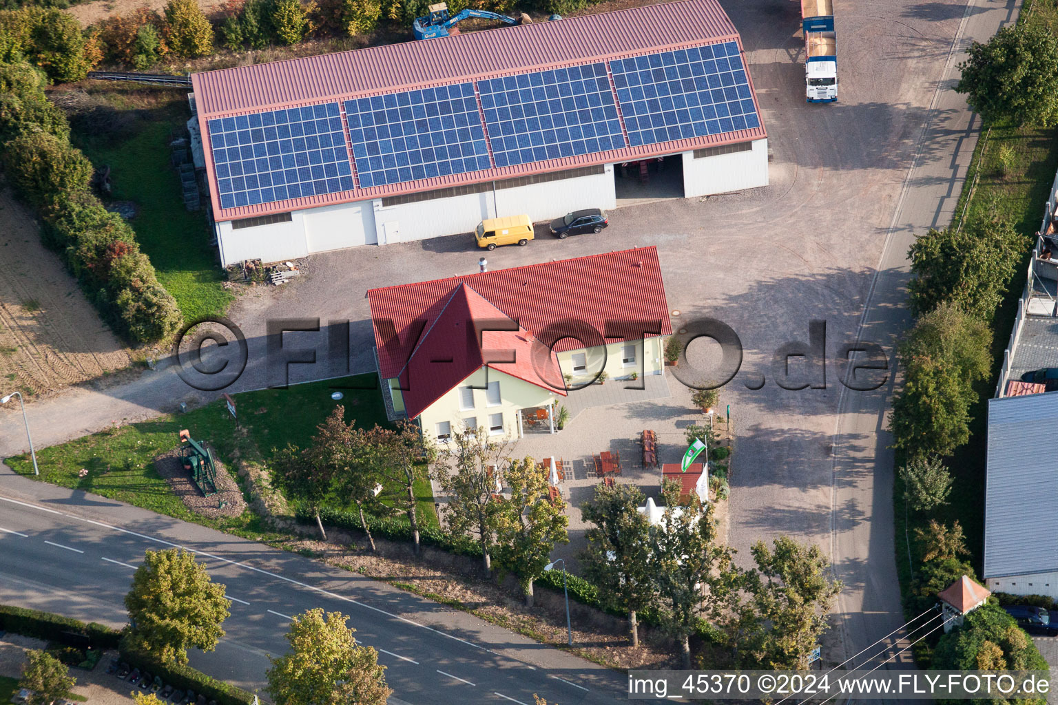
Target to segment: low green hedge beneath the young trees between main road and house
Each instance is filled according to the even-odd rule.
[[[313,514],[305,511],[304,507],[295,507],[294,516],[298,523],[315,525],[316,519]],[[376,538],[384,538],[390,541],[411,541],[412,527],[406,517],[376,517],[364,515],[367,519],[367,526],[371,535]],[[320,511],[320,519],[324,524],[341,528],[343,531],[361,533],[363,528],[360,523],[360,515],[353,512],[342,512],[340,509],[324,508]],[[451,532],[434,524],[419,527],[419,540],[423,545],[430,545],[441,551],[446,551],[459,556],[470,556],[472,558],[481,557],[481,546],[464,536],[455,536]],[[517,573],[513,571],[513,573]],[[537,587],[548,588],[555,592],[562,592],[562,572],[549,571],[534,581]],[[566,590],[569,598],[601,610],[616,617],[626,618],[628,615],[618,610],[604,607],[599,600],[599,589],[572,573],[566,573]],[[646,610],[637,614],[637,620],[641,625],[657,627],[661,624],[660,617],[654,610]],[[698,625],[697,636],[703,639],[711,639],[713,627],[701,620]]]

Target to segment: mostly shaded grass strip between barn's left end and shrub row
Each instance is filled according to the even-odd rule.
[[[224,313],[233,296],[221,286],[223,274],[209,245],[205,210],[188,211],[180,179],[169,166],[169,134],[190,117],[183,92],[150,89],[148,107],[140,99],[144,89],[105,86],[93,95],[117,113],[134,111],[135,119],[118,133],[96,135],[79,131],[73,122],[72,140],[96,167],[110,166],[115,201],[133,201],[139,214],[131,221],[136,240],[150,257],[158,279],[177,299],[184,318]]]

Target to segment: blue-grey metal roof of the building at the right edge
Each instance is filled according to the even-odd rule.
[[[984,578],[993,592],[1058,597],[1058,392],[988,402]]]

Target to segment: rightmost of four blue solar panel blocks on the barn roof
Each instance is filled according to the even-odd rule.
[[[633,147],[761,126],[734,41],[613,59],[609,68]]]

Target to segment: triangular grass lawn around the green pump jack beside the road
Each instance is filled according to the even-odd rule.
[[[248,431],[244,437],[236,434],[235,421],[221,401],[187,413],[99,431],[38,450],[40,480],[92,491],[184,521],[260,538],[258,519],[249,509],[241,517],[223,520],[205,519],[188,511],[154,470],[153,459],[177,447],[180,430],[186,428],[196,441],[209,442],[229,468],[233,467],[230,459],[236,453],[245,457],[259,452],[267,463],[273,448],[287,443],[304,447],[309,443],[316,425],[339,404],[345,406],[347,422],[355,420],[358,426],[366,427],[387,425],[373,384],[371,374],[236,394],[239,423]],[[344,398],[332,401],[333,388],[346,385],[367,389],[343,388]],[[33,477],[28,456],[8,459],[7,463],[16,471]],[[81,468],[88,470],[84,478],[78,477]],[[430,483],[419,483],[416,494],[422,520],[437,523]]]

